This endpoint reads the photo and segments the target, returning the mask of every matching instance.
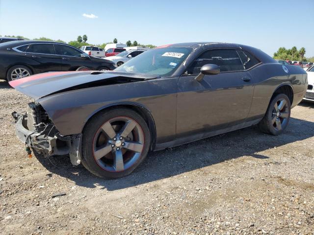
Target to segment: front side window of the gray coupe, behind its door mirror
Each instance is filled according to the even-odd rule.
[[[244,66],[234,49],[209,49],[203,52],[187,69],[188,74],[198,74],[203,65],[214,64],[221,72],[241,71]]]

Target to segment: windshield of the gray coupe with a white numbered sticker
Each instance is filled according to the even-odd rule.
[[[190,47],[164,47],[145,51],[114,71],[171,75],[190,54]]]

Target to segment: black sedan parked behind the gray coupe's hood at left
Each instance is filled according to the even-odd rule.
[[[0,78],[8,81],[49,71],[114,70],[108,60],[63,43],[12,41],[0,44]]]

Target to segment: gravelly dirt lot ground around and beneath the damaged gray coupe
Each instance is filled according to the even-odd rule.
[[[253,126],[104,180],[66,157],[26,157],[10,114],[28,100],[0,81],[0,234],[314,234],[314,104],[281,136]]]

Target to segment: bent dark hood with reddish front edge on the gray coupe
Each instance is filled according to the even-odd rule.
[[[46,72],[10,81],[9,84],[19,92],[34,99],[65,91],[87,87],[116,84],[115,81],[133,82],[154,79],[159,75],[115,71],[67,71]]]

